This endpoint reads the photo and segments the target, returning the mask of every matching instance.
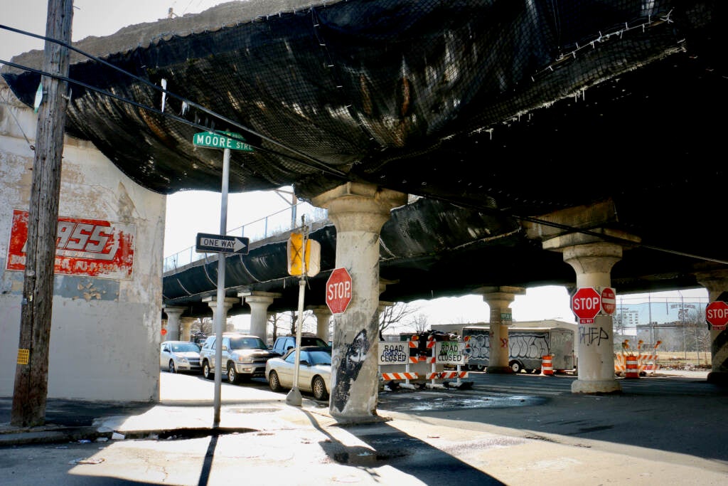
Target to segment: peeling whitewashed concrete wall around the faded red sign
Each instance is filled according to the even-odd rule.
[[[15,387],[23,271],[8,270],[9,248],[13,212],[28,211],[30,203],[36,119],[0,78],[0,396],[12,396]],[[57,270],[49,398],[159,399],[165,205],[164,195],[124,176],[92,144],[66,137],[59,219],[124,227],[133,237],[133,260],[126,260],[130,275]]]

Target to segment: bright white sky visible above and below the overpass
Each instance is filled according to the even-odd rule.
[[[108,36],[120,28],[137,23],[155,22],[167,17],[172,8],[176,15],[202,12],[219,0],[75,0],[71,39],[87,36]],[[47,0],[0,0],[3,18],[0,24],[44,35],[47,20]],[[42,49],[43,42],[32,37],[0,29],[0,59],[10,60],[28,50]],[[288,189],[290,188],[282,188]],[[288,199],[290,201],[290,197]],[[290,207],[290,203],[275,192],[245,192],[230,194],[227,200],[227,229],[232,230],[264,216]],[[221,232],[221,194],[219,192],[178,192],[167,198],[165,256],[194,246],[197,232]],[[576,276],[574,275],[574,280]],[[617,289],[619,298],[619,289]],[[652,294],[652,299],[667,297],[708,298],[705,289]],[[629,302],[647,299],[647,294],[631,295]],[[473,324],[489,320],[489,307],[477,295],[411,302],[416,314],[427,315],[427,322]],[[511,311],[514,321],[556,319],[575,322],[571,313],[569,293],[561,286],[534,287],[525,295],[516,296]],[[248,318],[236,318],[236,326],[246,326]]]

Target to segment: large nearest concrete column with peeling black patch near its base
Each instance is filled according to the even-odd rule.
[[[336,226],[336,267],[352,277],[346,312],[333,316],[331,400],[333,418],[361,423],[376,418],[379,396],[379,231],[407,195],[348,182],[318,195]]]

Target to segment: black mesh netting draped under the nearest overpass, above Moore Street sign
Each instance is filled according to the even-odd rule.
[[[538,213],[545,198],[550,210],[607,195],[577,179],[553,195],[543,184],[553,164],[631,166],[604,143],[619,111],[625,146],[664,137],[656,124],[670,115],[698,117],[695,100],[670,100],[669,113],[655,101],[676,84],[703,91],[695,80],[713,82],[706,69],[724,71],[723,10],[684,0],[234,1],[75,45],[222,115],[165,103],[255,147],[232,154],[233,192],[294,184],[306,199],[360,180]],[[14,61],[39,68],[41,55]],[[3,75],[31,105],[39,74]],[[75,54],[71,79],[161,109],[157,90]],[[220,187],[221,151],[193,146],[199,127],[80,86],[67,124],[149,189]],[[513,160],[521,165],[504,163]]]

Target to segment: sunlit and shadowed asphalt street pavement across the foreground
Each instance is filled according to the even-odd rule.
[[[17,478],[9,484],[37,484],[40,473],[23,464],[23,447],[58,444],[44,449],[63,457],[58,464],[64,464],[63,454],[87,453],[74,465],[78,482],[68,484],[97,484],[80,482],[78,475],[86,471],[94,477],[103,471],[128,484],[223,484],[215,478],[239,469],[243,457],[246,475],[276,470],[284,478],[288,471],[293,475],[285,482],[293,485],[723,486],[728,390],[707,383],[705,375],[662,372],[620,380],[622,393],[585,395],[570,392],[572,376],[471,373],[472,386],[462,389],[383,391],[379,416],[348,426],[312,397],[304,396],[298,407],[264,383],[223,383],[221,420],[213,429],[212,401],[189,398],[193,386],[202,387],[197,396],[212,396],[213,382],[163,372],[157,404],[50,399],[47,425],[39,428],[9,426],[12,399],[1,398],[0,471]],[[165,448],[175,442],[190,446],[192,459],[183,461],[192,469],[188,476],[170,473],[172,452]],[[213,442],[218,452],[205,469]],[[114,444],[135,453],[122,460]],[[230,458],[222,452],[231,450],[237,452]],[[95,459],[100,454],[105,460]],[[66,469],[44,470],[42,479],[67,481]],[[166,476],[151,481],[157,469]],[[298,470],[306,471],[305,479],[296,476]]]

